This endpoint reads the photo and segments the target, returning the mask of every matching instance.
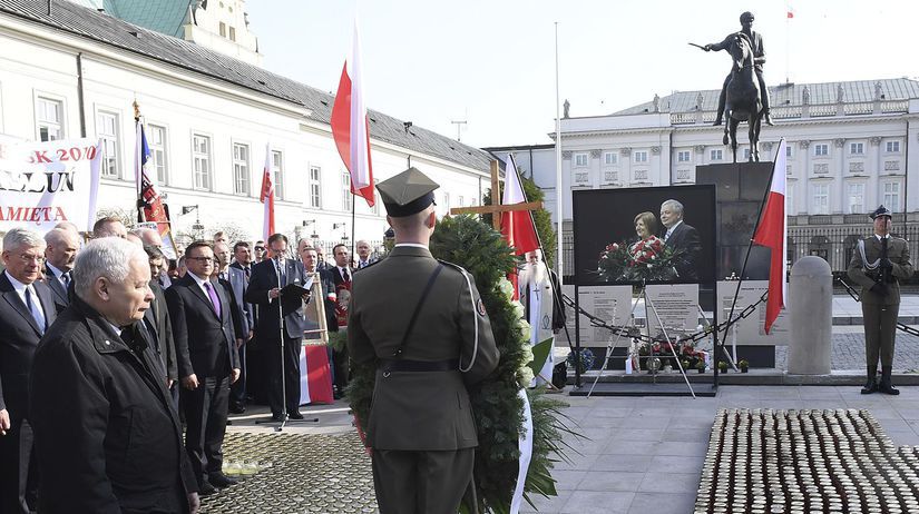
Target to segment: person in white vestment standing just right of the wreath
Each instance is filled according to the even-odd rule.
[[[553,379],[555,353],[555,334],[565,327],[565,309],[561,306],[561,293],[558,286],[558,276],[546,267],[542,261],[542,250],[528,251],[527,261],[518,275],[517,285],[520,293],[520,303],[524,304],[524,319],[530,324],[530,344],[537,345],[546,339],[553,339],[553,349],[546,364],[537,373],[530,386],[542,385]]]

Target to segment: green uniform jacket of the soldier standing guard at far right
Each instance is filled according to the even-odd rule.
[[[881,241],[876,236],[869,236],[864,240],[864,259],[869,265],[873,265],[881,257]],[[887,258],[893,265],[891,276],[906,279],[912,276],[912,263],[909,260],[909,245],[905,239],[890,236],[887,246]],[[847,274],[856,284],[861,286],[861,302],[867,305],[894,305],[900,303],[900,284],[894,280],[887,284],[887,294],[878,294],[870,290],[876,284],[874,275],[879,269],[866,269],[862,261],[861,251],[856,246],[852,253],[852,260],[849,261]]]

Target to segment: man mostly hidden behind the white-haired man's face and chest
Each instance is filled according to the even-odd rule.
[[[166,388],[169,389],[173,402],[176,408],[178,408],[176,343],[173,338],[173,323],[169,319],[166,291],[157,279],[163,271],[166,257],[163,255],[163,251],[155,246],[144,245],[144,251],[147,254],[147,261],[150,265],[150,290],[154,294],[154,299],[150,302],[150,308],[144,312],[143,328],[149,332],[149,334],[146,334],[146,336],[148,336],[147,339],[163,363],[163,369],[166,372]]]

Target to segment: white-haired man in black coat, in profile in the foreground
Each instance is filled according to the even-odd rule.
[[[139,322],[147,256],[124,239],[86,245],[75,297],[41,340],[31,413],[38,511],[195,513],[197,484],[159,358]]]

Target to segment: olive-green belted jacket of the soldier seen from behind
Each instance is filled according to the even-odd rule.
[[[400,245],[381,263],[354,274],[348,348],[355,363],[392,358],[438,264],[427,248]],[[366,427],[371,447],[450,451],[478,445],[466,386],[488,376],[499,355],[479,291],[468,278],[466,271],[444,265],[401,358],[458,358],[460,367],[469,370],[384,374],[378,369]]]

